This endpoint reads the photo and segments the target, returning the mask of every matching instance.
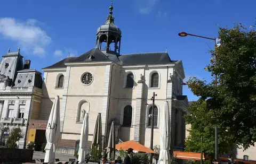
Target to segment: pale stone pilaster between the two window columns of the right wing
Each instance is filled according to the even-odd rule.
[[[144,87],[144,76],[141,74],[140,75],[140,80],[137,82],[136,107],[135,107],[135,125],[140,125],[141,124],[143,87]],[[140,126],[135,126],[134,127],[134,141],[140,142]]]

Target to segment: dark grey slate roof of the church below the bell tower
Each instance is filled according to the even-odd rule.
[[[91,56],[91,58],[89,58]],[[138,53],[119,56],[111,51],[101,51],[99,48],[93,48],[78,57],[67,57],[62,61],[45,68],[65,68],[65,63],[79,62],[107,62],[113,61],[119,65],[146,65],[146,64],[174,64],[166,52],[158,53]],[[45,69],[43,68],[43,69]]]

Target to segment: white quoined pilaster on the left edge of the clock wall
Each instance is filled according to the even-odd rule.
[[[63,124],[65,119],[65,111],[66,111],[66,104],[67,104],[67,94],[68,94],[68,85],[69,85],[69,77],[70,77],[70,66],[67,66],[66,69],[66,76],[63,88],[63,95],[62,95],[62,102],[60,105],[60,132],[63,132]]]

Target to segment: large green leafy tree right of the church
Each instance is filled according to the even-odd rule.
[[[190,77],[188,87],[199,99],[187,108],[191,124],[187,150],[214,152],[214,126],[219,129],[219,152],[234,146],[249,148],[256,142],[256,31],[236,24],[233,29],[219,28],[220,46],[211,50],[206,71],[216,79]],[[203,135],[203,144],[200,136]],[[228,149],[227,149],[228,148]]]

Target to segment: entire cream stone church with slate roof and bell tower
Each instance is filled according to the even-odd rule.
[[[59,147],[75,148],[85,113],[89,114],[89,141],[101,113],[103,143],[114,121],[116,142],[134,140],[149,147],[151,124],[155,127],[154,145],[159,145],[159,122],[168,101],[174,149],[183,150],[186,125],[182,115],[188,100],[182,95],[182,61],[172,60],[167,52],[121,55],[122,33],[114,24],[113,6],[109,9],[106,23],[97,30],[93,49],[42,69],[39,118],[49,118],[54,97],[59,95]],[[150,100],[153,92],[157,94],[154,114]],[[154,123],[149,117],[152,114]]]

